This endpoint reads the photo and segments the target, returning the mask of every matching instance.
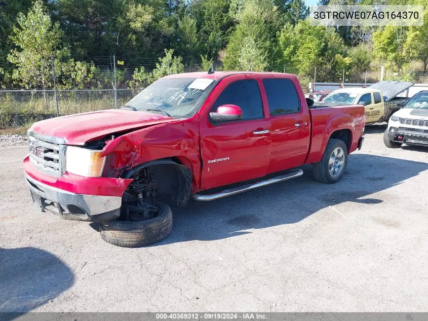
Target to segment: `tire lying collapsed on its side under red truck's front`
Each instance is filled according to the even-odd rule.
[[[171,208],[157,202],[160,213],[145,221],[111,220],[99,223],[101,238],[107,243],[123,247],[139,247],[158,242],[171,233]]]

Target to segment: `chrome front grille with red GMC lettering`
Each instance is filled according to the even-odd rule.
[[[30,162],[38,170],[59,177],[65,172],[65,146],[29,136]]]

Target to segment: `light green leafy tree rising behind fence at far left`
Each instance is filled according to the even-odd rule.
[[[52,84],[51,57],[59,60],[67,54],[61,44],[62,31],[58,23],[52,23],[40,0],[26,16],[18,14],[17,22],[12,37],[17,48],[8,55],[16,66],[12,77],[23,87],[45,89]]]

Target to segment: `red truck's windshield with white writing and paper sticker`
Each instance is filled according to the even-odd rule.
[[[137,111],[159,111],[171,117],[190,117],[214,86],[207,78],[161,78],[138,95],[126,106]]]

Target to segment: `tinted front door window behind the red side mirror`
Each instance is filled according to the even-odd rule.
[[[232,104],[242,109],[243,119],[263,117],[260,89],[254,79],[238,80],[228,85],[214,103],[211,111],[215,112],[218,106]]]

